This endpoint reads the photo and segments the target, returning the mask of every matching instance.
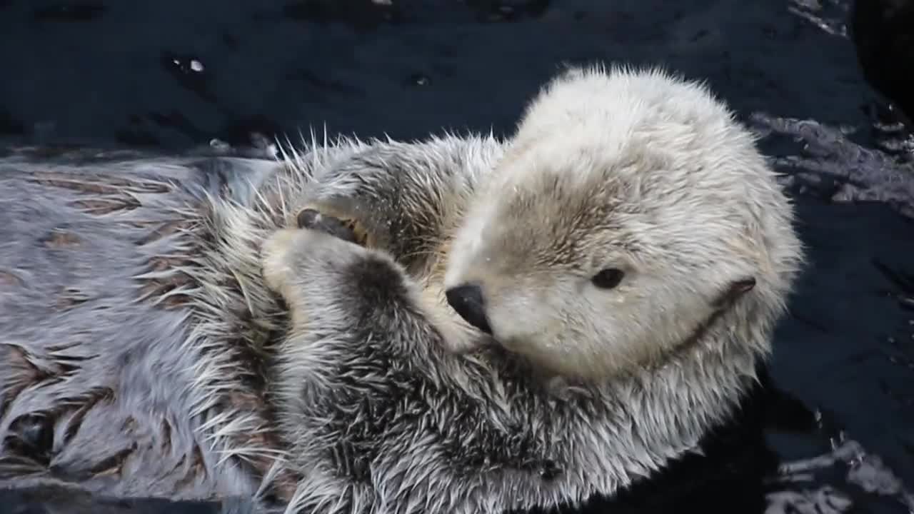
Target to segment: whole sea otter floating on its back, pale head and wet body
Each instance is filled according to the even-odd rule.
[[[694,461],[708,437],[736,423],[800,257],[789,205],[707,91],[652,73],[561,80],[574,86],[594,75],[614,85],[632,80],[618,101],[593,90],[593,100],[622,108],[638,105],[646,98],[638,91],[653,84],[657,110],[633,111],[628,128],[653,134],[657,123],[672,123],[679,138],[664,132],[628,144],[631,131],[622,127],[611,145],[569,148],[598,152],[574,154],[574,162],[600,166],[558,175],[511,168],[529,158],[524,137],[343,141],[278,163],[5,157],[0,474],[116,497],[241,496],[262,508],[327,514],[568,509],[626,489],[653,494],[645,486],[652,477]],[[669,111],[677,102],[695,109]],[[707,126],[724,132],[702,132]],[[735,139],[719,137],[727,134]],[[677,154],[683,141],[694,154]],[[735,154],[714,159],[726,149]],[[562,160],[550,155],[537,162]],[[611,155],[620,160],[604,158]],[[615,177],[622,164],[633,175]],[[591,167],[619,187],[607,189]],[[712,182],[696,184],[692,173],[748,186],[730,192],[739,201],[712,195],[712,203],[696,203],[708,194],[696,186]],[[678,184],[684,203],[651,207],[651,180]],[[541,195],[553,184],[558,193],[595,193],[578,193],[581,215],[593,205],[613,209],[594,211],[598,224],[567,218],[566,204],[556,203],[567,198]],[[622,195],[639,190],[642,197]],[[295,229],[303,209],[355,220],[358,244]],[[694,220],[678,232],[683,215]],[[578,248],[586,265],[517,257],[542,256],[553,244],[546,236],[573,243],[584,232],[564,230],[567,220],[604,236]],[[656,239],[651,223],[669,241]],[[719,230],[707,237],[699,225]],[[650,259],[593,251],[621,233],[607,230],[639,227],[650,237],[631,248],[657,245],[641,253]],[[692,246],[683,246],[688,237]],[[695,253],[674,271],[696,273],[707,287],[662,287],[664,256],[686,250]],[[581,293],[600,283],[602,293],[629,294],[622,284],[636,282],[603,287],[612,281],[595,278],[612,266],[624,268],[623,280],[648,280],[633,296],[640,303]],[[531,287],[512,289],[504,274],[512,268],[561,280],[531,278],[519,283]],[[572,274],[579,283],[570,287],[589,295],[593,312],[556,310],[561,296],[550,294],[567,295]],[[467,289],[454,290],[467,284],[484,305],[448,308],[465,299]],[[648,337],[650,312],[642,312],[654,308],[652,298],[687,315],[682,326],[661,316],[657,342]],[[512,299],[537,317],[512,324],[520,313]],[[680,308],[696,300],[700,307]],[[606,315],[605,305],[628,313],[610,318],[630,324],[635,339],[581,324]],[[518,336],[529,324],[560,345]],[[600,347],[602,337],[612,344]],[[581,355],[599,365],[579,365]],[[608,364],[616,358],[630,364]]]

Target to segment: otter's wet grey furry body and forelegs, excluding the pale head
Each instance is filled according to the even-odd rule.
[[[498,347],[446,348],[423,309],[421,279],[448,253],[430,233],[460,219],[503,152],[447,136],[279,164],[6,157],[0,473],[122,497],[459,514],[575,504],[697,450],[753,380],[770,326],[558,391]],[[378,220],[372,243],[396,262],[296,231],[288,246],[303,246],[282,256],[303,325],[289,327],[259,249],[316,184],[380,191],[401,216]]]

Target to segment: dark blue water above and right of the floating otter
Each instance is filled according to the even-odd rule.
[[[825,428],[771,444],[811,457],[845,431],[910,491],[914,227],[898,210],[911,212],[914,171],[872,129],[875,95],[843,36],[845,11],[799,0],[0,0],[0,139],[178,149],[311,128],[506,134],[565,62],[707,80],[797,178],[811,256],[771,372]],[[894,493],[864,495],[848,480],[855,466],[830,468],[859,498],[854,511],[907,511]]]

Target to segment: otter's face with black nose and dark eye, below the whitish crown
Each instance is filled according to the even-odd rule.
[[[726,208],[651,206],[632,198],[646,183],[569,166],[494,186],[452,242],[448,303],[505,348],[559,374],[608,375],[660,357],[754,287],[759,266]]]

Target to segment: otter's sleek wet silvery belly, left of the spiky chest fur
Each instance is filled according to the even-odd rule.
[[[0,480],[250,496],[207,437],[207,355],[169,270],[203,198],[246,201],[275,163],[83,157],[0,159]]]

